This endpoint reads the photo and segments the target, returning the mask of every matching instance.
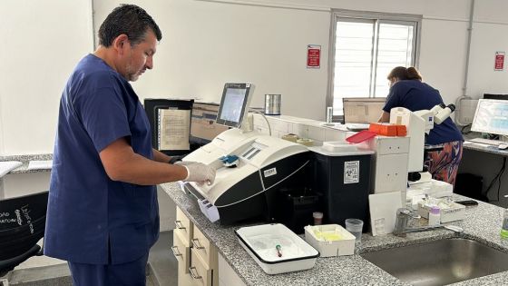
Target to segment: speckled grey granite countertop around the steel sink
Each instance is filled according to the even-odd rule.
[[[318,258],[314,268],[308,271],[296,271],[269,275],[249,256],[239,244],[234,233],[244,224],[221,226],[210,222],[190,195],[181,192],[178,183],[161,184],[178,207],[196,224],[201,232],[214,244],[220,254],[230,263],[231,268],[247,285],[408,285],[381,270],[360,255]],[[454,198],[464,198],[454,195]],[[414,243],[431,242],[453,237],[462,237],[482,242],[494,249],[508,252],[508,241],[500,238],[499,232],[503,220],[503,209],[493,204],[479,202],[478,206],[466,208],[463,221],[452,222],[464,228],[457,234],[444,229],[427,232],[407,233],[405,238],[392,234],[373,237],[363,233],[360,254],[387,248],[400,247]],[[410,259],[410,258],[408,258]],[[508,281],[508,271],[469,281],[454,283],[455,286],[502,285]]]

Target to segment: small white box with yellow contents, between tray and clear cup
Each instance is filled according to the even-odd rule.
[[[304,229],[305,240],[321,257],[355,253],[355,236],[338,224],[308,225]]]

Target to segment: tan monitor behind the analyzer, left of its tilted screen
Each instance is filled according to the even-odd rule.
[[[219,104],[194,103],[190,118],[190,143],[204,145],[228,130],[228,126],[215,123],[219,113]]]

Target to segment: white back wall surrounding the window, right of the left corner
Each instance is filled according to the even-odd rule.
[[[121,2],[124,1],[95,1],[96,29]],[[262,106],[264,94],[277,93],[282,94],[282,113],[323,120],[330,8],[423,15],[419,68],[425,81],[441,91],[446,103],[454,103],[464,94],[470,1],[135,3],[153,15],[164,35],[155,70],[134,84],[142,98],[198,97],[217,102],[222,83],[247,80],[257,84],[252,106]],[[492,51],[503,50],[503,41],[508,41],[492,34],[494,29],[499,30],[497,35],[508,32],[503,13],[497,12],[505,6],[502,0],[476,1],[468,95],[479,97],[486,86],[496,92],[508,92],[507,82],[501,79],[505,72],[494,74],[492,68]],[[318,70],[305,67],[307,44],[323,47]]]

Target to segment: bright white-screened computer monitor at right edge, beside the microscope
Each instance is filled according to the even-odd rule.
[[[471,130],[508,135],[508,101],[484,98],[478,100]]]

